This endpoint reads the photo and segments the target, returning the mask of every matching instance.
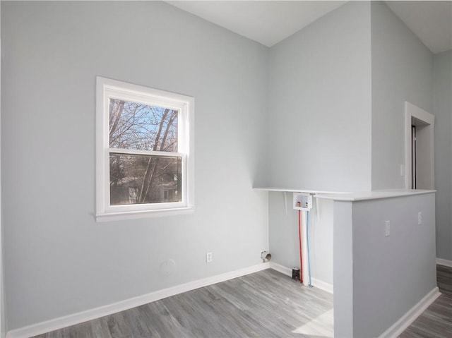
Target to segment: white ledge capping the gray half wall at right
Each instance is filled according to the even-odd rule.
[[[356,193],[318,193],[314,197],[322,198],[325,200],[358,201],[358,200],[378,200],[381,198],[394,198],[410,195],[422,195],[425,193],[436,193],[436,190],[390,189],[377,191],[362,191]]]

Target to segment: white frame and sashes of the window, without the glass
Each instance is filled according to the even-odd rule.
[[[176,109],[177,153],[120,150],[109,147],[109,99],[158,105]],[[182,157],[182,200],[172,203],[145,203],[110,205],[109,155],[110,152]],[[118,80],[96,79],[96,220],[97,222],[143,217],[184,215],[194,212],[194,98]]]

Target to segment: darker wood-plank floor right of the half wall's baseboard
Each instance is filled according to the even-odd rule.
[[[441,296],[400,334],[400,338],[452,337],[452,267],[436,265],[436,281]]]

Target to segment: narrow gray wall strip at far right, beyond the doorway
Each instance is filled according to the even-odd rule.
[[[452,51],[433,59],[436,257],[452,260]]]

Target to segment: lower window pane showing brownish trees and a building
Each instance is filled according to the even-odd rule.
[[[110,154],[110,205],[182,200],[182,158]]]

